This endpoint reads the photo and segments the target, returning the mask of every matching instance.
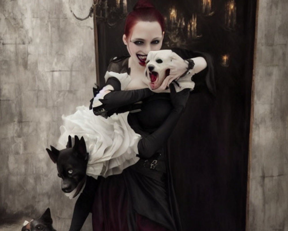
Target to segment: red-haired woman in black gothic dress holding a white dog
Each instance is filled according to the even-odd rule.
[[[70,231],[80,230],[91,210],[94,231],[181,230],[165,143],[185,107],[189,91],[154,93],[142,81],[147,54],[160,50],[163,38],[163,16],[149,1],[138,1],[126,18],[123,35],[130,56],[111,61],[105,75],[106,84],[96,92],[91,106],[94,114],[106,117],[130,111],[128,123],[143,137],[138,143],[140,160],[119,175],[97,180],[87,177],[86,187],[75,204]],[[150,88],[161,92],[174,79],[190,72],[202,77],[202,83],[206,81],[213,92],[209,56],[180,49],[173,51],[170,74],[157,89],[151,85]]]

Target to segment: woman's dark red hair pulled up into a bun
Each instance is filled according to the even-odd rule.
[[[131,28],[139,21],[158,22],[164,31],[164,17],[148,0],[139,0],[125,21],[124,34],[128,37]]]

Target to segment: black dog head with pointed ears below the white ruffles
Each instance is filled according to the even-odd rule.
[[[86,179],[86,169],[88,163],[88,153],[83,137],[75,135],[74,146],[71,147],[71,137],[69,136],[67,148],[57,150],[51,146],[51,150],[46,148],[51,160],[56,163],[58,176],[62,178],[61,188],[65,193],[70,193],[78,189],[74,197],[79,193]]]

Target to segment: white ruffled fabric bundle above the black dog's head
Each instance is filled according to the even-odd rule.
[[[77,107],[69,116],[62,116],[58,149],[66,148],[68,136],[83,136],[89,152],[86,174],[95,179],[120,174],[123,169],[136,163],[139,158],[137,144],[141,136],[129,126],[129,112],[103,118],[95,116],[88,107]]]

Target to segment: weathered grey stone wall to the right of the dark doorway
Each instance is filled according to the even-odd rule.
[[[249,231],[288,230],[288,1],[258,0]]]

